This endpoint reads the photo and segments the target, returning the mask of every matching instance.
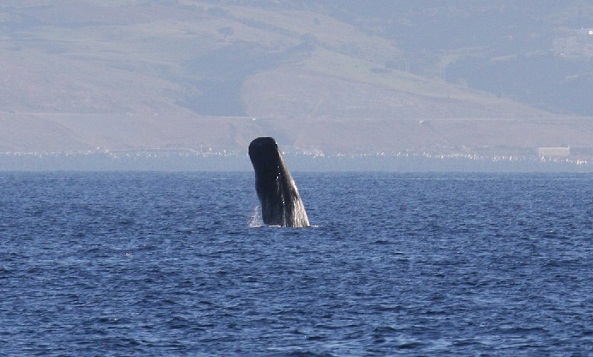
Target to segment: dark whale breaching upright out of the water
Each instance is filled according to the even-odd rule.
[[[264,223],[281,227],[309,227],[309,217],[299,190],[276,140],[271,137],[254,139],[249,144],[249,158],[255,171],[255,191]]]

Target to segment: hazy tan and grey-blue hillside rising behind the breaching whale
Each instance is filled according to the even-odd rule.
[[[497,26],[493,40],[467,31],[475,28],[468,19],[525,9],[444,3],[5,0],[0,152],[243,154],[260,135],[325,155],[593,146],[593,87],[579,72],[590,63],[588,38],[564,46],[570,59],[554,52],[572,43],[567,21],[577,5],[527,12],[523,27]],[[590,10],[581,5],[578,21]],[[447,19],[467,23],[437,31],[441,40],[431,43],[420,31],[427,19],[435,29]],[[519,40],[500,40],[515,31],[523,41],[534,29],[543,44],[527,52],[513,52]],[[561,71],[546,70],[546,61],[560,61]],[[525,63],[519,77],[515,67]],[[538,68],[569,78],[560,88],[579,96],[547,100],[556,92],[539,82],[526,89],[530,78],[550,80]],[[510,88],[509,73],[517,77]]]

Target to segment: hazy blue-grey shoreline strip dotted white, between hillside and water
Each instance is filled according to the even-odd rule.
[[[311,156],[285,154],[291,171],[340,172],[593,172],[593,162],[537,156],[463,155]],[[90,153],[0,153],[7,171],[251,171],[247,153],[199,154],[164,151]]]

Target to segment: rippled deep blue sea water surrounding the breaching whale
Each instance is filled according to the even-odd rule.
[[[0,173],[0,355],[592,355],[593,175]]]

